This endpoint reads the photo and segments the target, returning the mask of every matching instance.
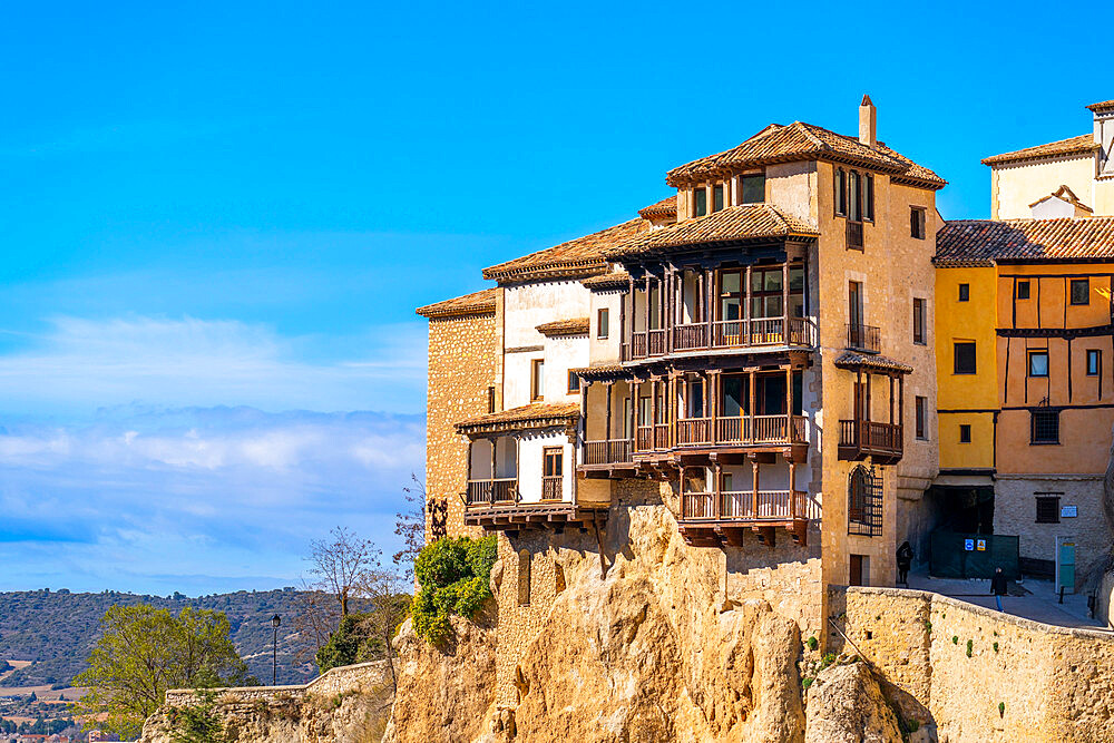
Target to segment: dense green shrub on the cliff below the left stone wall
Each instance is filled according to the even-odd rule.
[[[420,586],[414,596],[414,632],[432,645],[449,637],[453,614],[471,619],[491,597],[489,581],[498,546],[495,536],[482,539],[438,539],[414,559]]]

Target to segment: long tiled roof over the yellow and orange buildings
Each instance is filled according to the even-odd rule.
[[[1114,260],[1114,216],[1059,219],[965,219],[936,235],[938,266],[995,261]]]

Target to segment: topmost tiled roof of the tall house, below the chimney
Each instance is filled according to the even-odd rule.
[[[789,126],[771,124],[737,147],[673,168],[665,182],[680,186],[725,170],[815,159],[862,165],[930,188],[942,188],[947,184],[940,176],[898,155],[882,143],[878,143],[878,147],[868,147],[853,137],[802,121],[793,121]]]

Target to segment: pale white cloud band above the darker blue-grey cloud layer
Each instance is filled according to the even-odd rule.
[[[307,348],[320,345],[315,341],[285,339],[267,325],[238,321],[57,317],[29,348],[0,356],[0,399],[9,412],[29,413],[136,401],[270,410],[421,409],[426,354],[420,324],[383,325],[344,339],[345,348],[361,349],[352,359],[312,355]]]

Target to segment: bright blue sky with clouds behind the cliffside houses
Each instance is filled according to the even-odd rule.
[[[336,524],[390,550],[414,306],[768,123],[854,133],[863,92],[986,216],[980,157],[1114,97],[1035,3],[162,4],[0,23],[0,589],[292,585]]]

